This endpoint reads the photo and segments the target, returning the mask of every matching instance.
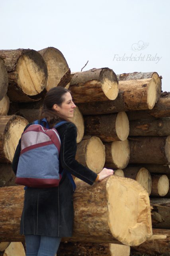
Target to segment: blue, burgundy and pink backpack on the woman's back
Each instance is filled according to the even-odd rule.
[[[34,121],[23,132],[15,180],[17,184],[32,188],[59,186],[62,178],[62,173],[59,173],[61,141],[56,128],[64,123],[66,121],[59,122],[49,129],[47,120],[43,118]]]

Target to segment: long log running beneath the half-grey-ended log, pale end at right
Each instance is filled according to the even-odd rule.
[[[159,94],[160,96],[160,94]],[[148,110],[156,102],[154,78],[119,82],[119,94],[115,100],[79,103],[83,115],[111,114],[129,110]],[[139,101],[140,99],[140,101]]]

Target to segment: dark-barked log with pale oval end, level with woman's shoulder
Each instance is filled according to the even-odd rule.
[[[126,140],[129,134],[129,120],[125,112],[84,116],[84,133],[97,136],[105,142]]]

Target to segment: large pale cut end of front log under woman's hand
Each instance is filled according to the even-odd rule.
[[[113,236],[125,245],[137,246],[145,242],[152,235],[147,191],[135,180],[119,176],[111,176],[107,180],[106,190],[108,202],[111,202],[108,204],[108,224]],[[121,194],[119,194],[120,191]],[[125,205],[126,208],[124,208]],[[121,208],[124,208],[122,214],[119,212]],[[137,218],[134,218],[134,214]]]

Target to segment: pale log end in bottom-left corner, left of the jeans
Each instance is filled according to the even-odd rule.
[[[25,256],[25,250],[21,242],[11,242],[6,248],[4,256]]]

